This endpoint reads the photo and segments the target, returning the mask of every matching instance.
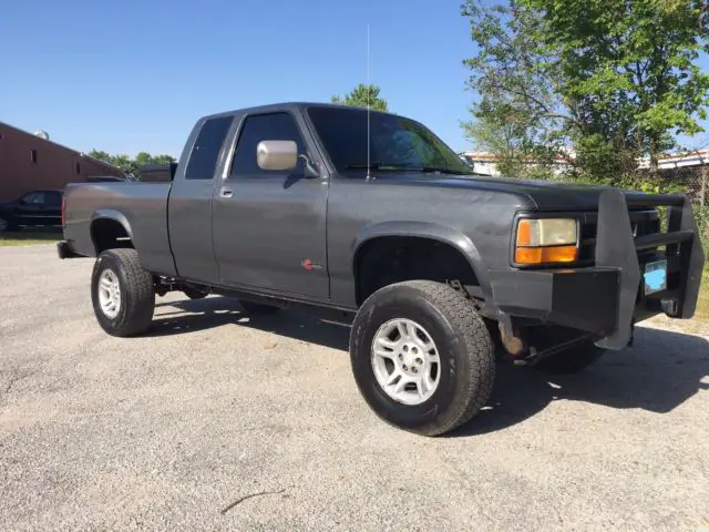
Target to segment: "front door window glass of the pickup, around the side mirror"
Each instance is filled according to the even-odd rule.
[[[305,153],[305,143],[296,120],[289,113],[255,114],[247,116],[242,126],[236,153],[232,163],[230,177],[237,175],[273,175],[282,172],[261,170],[256,163],[256,146],[261,141],[295,141],[298,145],[298,153]],[[291,171],[294,174],[301,174],[305,167],[302,158],[298,160],[298,165]]]

